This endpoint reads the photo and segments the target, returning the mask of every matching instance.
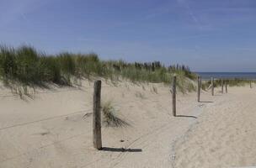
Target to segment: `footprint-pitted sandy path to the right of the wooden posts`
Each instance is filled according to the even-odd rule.
[[[175,145],[174,167],[256,165],[255,88],[232,88]]]

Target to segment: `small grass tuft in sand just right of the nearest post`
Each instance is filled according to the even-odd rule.
[[[102,113],[104,116],[104,123],[107,127],[125,127],[129,125],[124,120],[116,116],[115,108],[112,102],[104,102],[102,105]]]

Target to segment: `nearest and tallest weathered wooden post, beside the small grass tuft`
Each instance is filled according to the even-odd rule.
[[[101,81],[94,81],[93,94],[93,147],[101,150],[101,116],[100,116],[100,97]]]

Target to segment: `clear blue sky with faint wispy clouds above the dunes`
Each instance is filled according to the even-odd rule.
[[[0,44],[256,71],[256,1],[0,0]]]

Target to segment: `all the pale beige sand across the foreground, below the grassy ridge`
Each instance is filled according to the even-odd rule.
[[[104,150],[99,151],[92,142],[93,83],[36,89],[23,99],[1,87],[0,167],[256,165],[256,88],[219,90],[215,97],[203,92],[200,103],[195,92],[179,94],[174,118],[169,87],[104,81],[103,102],[112,101],[129,125],[103,125]]]

